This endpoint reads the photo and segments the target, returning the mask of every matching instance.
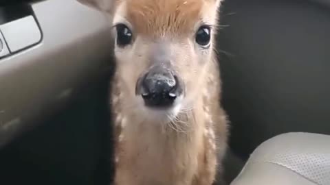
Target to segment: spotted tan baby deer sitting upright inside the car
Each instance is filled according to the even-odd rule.
[[[221,0],[78,0],[109,15],[115,185],[210,185],[227,141]]]

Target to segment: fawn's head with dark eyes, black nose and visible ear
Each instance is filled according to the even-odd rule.
[[[148,116],[192,108],[206,83],[221,0],[78,0],[109,14],[124,99]]]

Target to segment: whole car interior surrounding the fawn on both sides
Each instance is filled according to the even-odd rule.
[[[330,1],[220,12],[226,182],[330,185]],[[0,184],[111,184],[109,27],[75,0],[0,1]]]

